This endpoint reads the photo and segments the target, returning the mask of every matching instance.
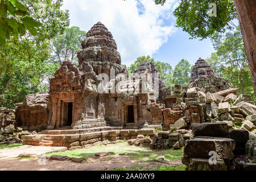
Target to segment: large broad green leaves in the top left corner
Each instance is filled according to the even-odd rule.
[[[29,9],[18,0],[1,0],[0,3],[0,44],[12,36],[19,38],[28,30],[31,35],[38,35],[38,27],[42,26],[32,18]]]

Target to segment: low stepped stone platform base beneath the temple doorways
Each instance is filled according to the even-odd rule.
[[[108,128],[108,127],[106,127]],[[40,135],[22,136],[23,144],[34,146],[63,146],[69,150],[85,147],[104,140],[135,139],[138,135],[154,136],[154,129],[118,130],[117,128],[83,130],[46,130]],[[98,131],[101,130],[101,131]]]

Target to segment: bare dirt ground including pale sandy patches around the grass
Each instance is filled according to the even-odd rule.
[[[101,146],[105,148],[105,146]],[[106,148],[112,149],[115,146],[109,146]],[[128,147],[128,146],[127,146]],[[27,148],[25,150],[25,148]],[[97,148],[97,147],[96,147]],[[120,147],[119,147],[120,148]],[[117,150],[119,150],[119,148]],[[100,148],[101,149],[101,148]],[[156,167],[170,167],[180,166],[181,160],[149,160],[144,162],[139,159],[131,159],[130,155],[108,155],[102,158],[92,158],[89,162],[74,163],[72,161],[59,161],[48,160],[48,158],[34,157],[34,158],[18,158],[19,154],[36,154],[40,151],[54,151],[63,150],[63,148],[38,148],[36,146],[21,146],[16,148],[6,148],[0,150],[0,171],[103,171],[112,170],[115,168],[138,168],[144,167],[148,169],[154,169]],[[123,147],[122,147],[123,150]],[[135,148],[133,150],[141,150]],[[144,150],[144,149],[143,149]],[[147,150],[144,150],[147,151]],[[68,152],[68,151],[66,151]],[[120,152],[119,152],[120,153]],[[4,154],[4,155],[3,155]]]

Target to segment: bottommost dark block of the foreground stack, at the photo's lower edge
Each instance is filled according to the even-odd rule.
[[[216,164],[210,165],[209,159],[189,158],[182,159],[187,166],[187,171],[227,171],[228,168],[223,159],[217,159]]]

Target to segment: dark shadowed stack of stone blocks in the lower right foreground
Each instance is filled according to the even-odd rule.
[[[232,166],[241,170],[241,165],[234,165],[237,163],[235,155],[236,159],[245,154],[255,159],[256,140],[249,140],[246,130],[229,132],[226,123],[193,123],[192,132],[194,138],[185,141],[182,158],[188,171],[226,171]],[[243,163],[243,169],[253,170],[255,167],[256,164]]]

